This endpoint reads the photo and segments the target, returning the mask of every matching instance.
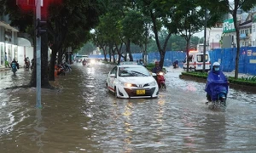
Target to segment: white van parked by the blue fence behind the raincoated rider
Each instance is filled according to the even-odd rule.
[[[203,52],[189,51],[189,70],[202,71],[203,70]],[[183,69],[187,69],[187,57],[183,62]],[[209,52],[206,52],[206,66],[205,71],[211,70],[211,59]]]

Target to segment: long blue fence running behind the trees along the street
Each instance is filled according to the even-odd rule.
[[[211,63],[218,61],[223,71],[230,72],[236,69],[236,48],[216,48],[209,51],[209,54]],[[102,55],[100,56],[103,58]],[[132,54],[132,57],[136,61],[143,59],[143,54]],[[164,66],[171,66],[175,60],[178,60],[179,67],[182,67],[185,57],[186,53],[183,51],[166,51]],[[154,63],[156,60],[160,60],[159,52],[148,53],[148,63]],[[241,47],[238,72],[256,75],[256,47]]]

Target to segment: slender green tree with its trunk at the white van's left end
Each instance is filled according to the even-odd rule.
[[[186,40],[187,57],[189,57],[190,45],[193,44],[190,43],[193,34],[200,31],[204,26],[214,26],[223,17],[216,9],[212,9],[213,7],[206,8],[206,6],[208,6],[208,3],[203,0],[180,0],[173,8],[176,13],[173,20],[176,22],[177,31]],[[189,58],[187,58],[187,71],[189,71]]]

